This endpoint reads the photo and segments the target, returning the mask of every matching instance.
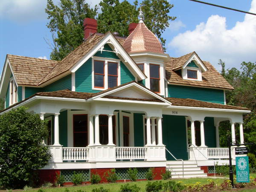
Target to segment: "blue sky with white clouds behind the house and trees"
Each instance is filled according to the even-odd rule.
[[[256,13],[256,0],[202,1]],[[87,2],[95,6],[100,0]],[[256,16],[189,0],[169,2],[174,4],[169,15],[177,17],[169,21],[170,26],[163,33],[166,52],[171,57],[195,51],[217,70],[221,70],[219,59],[225,61],[226,68],[238,69],[242,61],[256,62]],[[51,40],[46,4],[47,0],[0,1],[0,70],[6,54],[50,58],[51,49],[45,41]]]

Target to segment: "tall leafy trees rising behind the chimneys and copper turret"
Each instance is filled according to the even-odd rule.
[[[118,32],[120,36],[128,36],[129,23],[138,23],[138,1],[133,4],[127,0],[102,0],[99,5],[101,12],[98,17],[98,6],[90,8],[86,0],[60,0],[55,5],[52,0],[47,0],[49,23],[47,27],[52,32],[53,44],[50,45],[51,59],[61,60],[73,49],[83,42],[85,17],[96,18],[98,21],[98,32]],[[144,23],[165,45],[166,40],[161,37],[164,30],[169,27],[169,20],[176,17],[169,16],[173,5],[168,0],[143,0],[142,10]]]

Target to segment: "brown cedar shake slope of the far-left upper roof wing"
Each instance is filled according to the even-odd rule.
[[[59,62],[9,54],[7,58],[19,85],[38,85]]]

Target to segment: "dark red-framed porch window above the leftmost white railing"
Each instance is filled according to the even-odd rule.
[[[73,145],[74,147],[86,147],[88,145],[87,114],[73,115]]]

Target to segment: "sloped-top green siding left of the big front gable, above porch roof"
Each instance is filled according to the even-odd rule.
[[[45,92],[69,89],[71,90],[71,74],[67,75],[43,88]]]

